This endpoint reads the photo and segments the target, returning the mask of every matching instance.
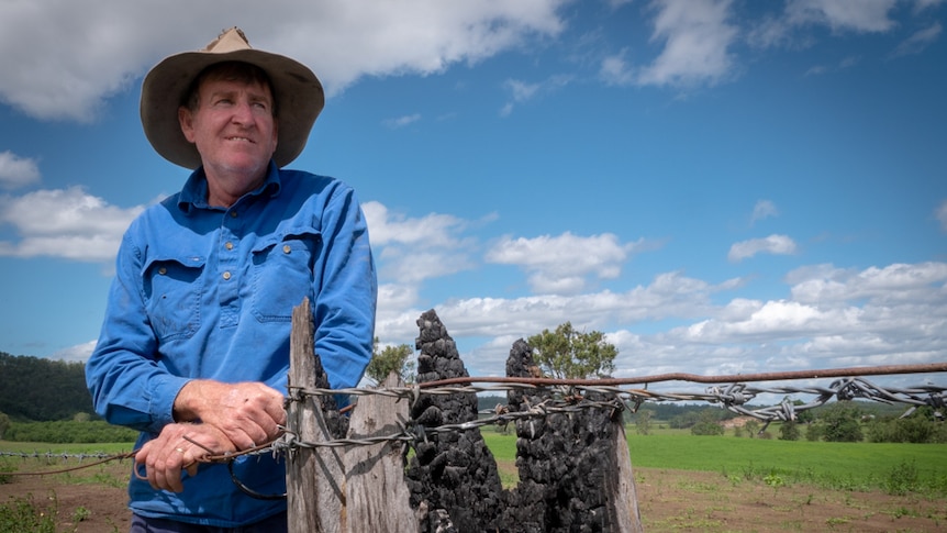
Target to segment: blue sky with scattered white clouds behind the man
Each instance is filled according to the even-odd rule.
[[[290,166],[356,188],[382,343],[433,308],[478,376],[566,321],[619,377],[947,360],[945,4],[0,3],[0,351],[91,352],[188,174],[142,77],[237,25],[326,87]]]

